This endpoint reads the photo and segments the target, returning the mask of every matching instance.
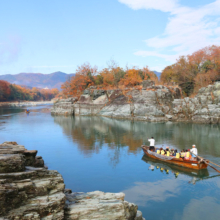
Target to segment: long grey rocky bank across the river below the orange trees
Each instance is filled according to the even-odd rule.
[[[53,115],[97,115],[149,122],[220,123],[220,82],[201,88],[194,98],[182,98],[177,86],[145,82],[142,90],[90,88],[81,97],[57,101]]]

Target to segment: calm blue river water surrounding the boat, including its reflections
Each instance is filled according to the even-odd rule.
[[[37,149],[67,188],[124,192],[146,219],[220,218],[220,176],[167,166],[143,157],[140,146],[154,136],[157,146],[196,144],[199,154],[220,164],[220,126],[147,123],[102,117],[52,117],[48,107],[0,109],[0,142]]]

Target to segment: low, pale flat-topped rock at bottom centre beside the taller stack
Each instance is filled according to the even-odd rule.
[[[66,194],[65,219],[132,220],[138,216],[142,220],[142,214],[137,214],[137,205],[124,201],[124,196],[124,193],[100,191]]]

